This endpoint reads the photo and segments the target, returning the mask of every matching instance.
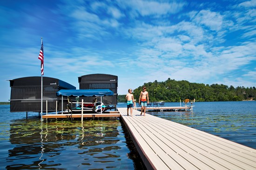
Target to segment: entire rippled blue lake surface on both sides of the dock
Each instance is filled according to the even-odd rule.
[[[148,113],[256,149],[256,101],[194,105],[193,112]],[[145,169],[119,118],[41,123],[38,113],[26,119],[9,111],[0,105],[0,170]]]

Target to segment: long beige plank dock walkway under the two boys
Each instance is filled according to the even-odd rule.
[[[118,108],[148,170],[256,170],[256,150],[206,132]]]

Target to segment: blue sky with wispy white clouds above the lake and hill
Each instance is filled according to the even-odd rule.
[[[1,0],[0,101],[10,79],[118,76],[256,87],[256,0]]]

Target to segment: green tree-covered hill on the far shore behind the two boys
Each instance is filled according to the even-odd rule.
[[[175,81],[168,78],[165,82],[148,82],[149,102],[179,102],[185,99],[195,101],[243,101],[256,97],[256,88],[233,87],[224,84],[191,83],[185,80]],[[142,86],[133,89],[134,99],[139,101]],[[128,92],[127,92],[128,93]],[[118,95],[118,102],[126,102],[125,95]]]

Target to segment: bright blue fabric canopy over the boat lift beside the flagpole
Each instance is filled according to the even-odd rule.
[[[57,96],[84,96],[84,97],[93,97],[93,96],[111,96],[114,95],[114,92],[109,89],[80,89],[80,90],[59,90],[56,92]]]

